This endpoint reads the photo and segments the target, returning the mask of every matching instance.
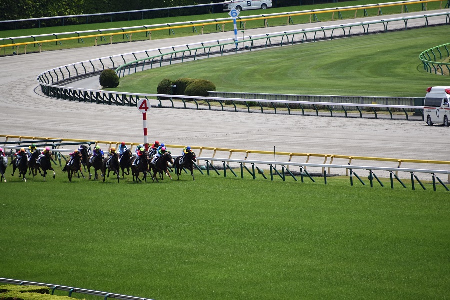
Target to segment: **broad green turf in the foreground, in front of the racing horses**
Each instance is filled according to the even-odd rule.
[[[1,277],[161,300],[450,295],[441,186],[197,172],[69,183],[57,169],[47,182],[0,183]]]

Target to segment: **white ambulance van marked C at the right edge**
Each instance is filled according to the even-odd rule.
[[[423,103],[423,116],[428,126],[443,123],[449,126],[450,120],[450,86],[434,86],[426,89]]]

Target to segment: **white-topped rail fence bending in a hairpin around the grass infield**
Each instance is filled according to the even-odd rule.
[[[41,87],[41,92],[48,97],[69,100],[69,101],[81,101],[81,102],[89,102],[89,103],[98,103],[98,104],[107,104],[107,105],[121,105],[121,106],[135,106],[140,98],[152,98],[153,100],[158,101],[155,106],[157,107],[167,107],[167,108],[175,108],[175,103],[173,99],[178,99],[178,103],[176,103],[176,108],[193,108],[193,109],[203,109],[200,108],[206,107],[204,109],[219,109],[225,110],[225,108],[234,111],[237,111],[238,108],[236,106],[236,102],[244,105],[244,109],[250,112],[250,104],[253,102],[256,106],[259,106],[261,112],[264,112],[262,104],[268,105],[272,107],[272,109],[267,110],[266,112],[274,112],[277,113],[277,105],[281,105],[284,109],[287,109],[288,114],[294,114],[293,109],[301,109],[301,113],[304,114],[305,105],[312,105],[312,108],[316,111],[318,115],[318,108],[314,105],[325,105],[326,109],[330,111],[330,115],[333,115],[333,106],[339,105],[342,107],[342,110],[345,111],[345,116],[348,117],[346,107],[352,107],[352,109],[357,109],[359,111],[359,116],[362,117],[362,111],[359,107],[369,107],[368,109],[372,110],[375,113],[375,118],[377,118],[377,109],[384,108],[390,112],[390,117],[392,118],[392,111],[390,109],[399,109],[405,113],[406,118],[408,119],[408,114],[406,109],[412,110],[414,109],[419,114],[423,113],[420,109],[420,105],[412,106],[412,105],[383,105],[380,106],[378,104],[372,103],[364,103],[360,105],[353,105],[353,103],[322,103],[322,102],[309,102],[302,103],[302,101],[298,101],[298,103],[294,103],[292,101],[268,101],[261,99],[237,99],[237,98],[215,98],[215,97],[188,97],[188,96],[175,96],[170,95],[161,95],[161,94],[139,94],[139,93],[124,93],[124,92],[111,92],[97,89],[82,89],[82,88],[74,88],[70,87],[68,84],[72,80],[80,80],[86,76],[92,76],[100,73],[104,69],[112,68],[116,69],[116,72],[119,76],[130,75],[132,73],[142,71],[145,69],[152,69],[153,67],[161,67],[163,65],[171,65],[173,63],[182,63],[184,61],[192,61],[196,59],[209,58],[212,56],[223,56],[225,54],[235,54],[244,52],[246,47],[245,43],[250,45],[248,47],[249,51],[253,49],[266,49],[269,46],[285,46],[292,45],[294,43],[303,43],[305,41],[312,40],[316,41],[320,37],[317,36],[317,33],[321,35],[321,38],[326,38],[327,32],[329,33],[328,38],[333,38],[333,34],[336,33],[337,37],[350,36],[351,29],[356,27],[359,29],[353,30],[354,34],[367,34],[369,32],[369,27],[372,25],[373,32],[386,32],[388,30],[389,23],[397,24],[400,22],[404,25],[404,28],[407,26],[407,21],[409,19],[424,19],[425,26],[428,24],[428,18],[437,17],[440,21],[445,24],[450,23],[450,12],[445,13],[436,13],[431,15],[421,15],[421,16],[413,16],[413,17],[404,17],[404,18],[393,18],[386,19],[380,21],[369,21],[369,22],[359,22],[359,23],[350,23],[350,24],[342,24],[342,25],[334,25],[327,27],[319,27],[319,28],[310,28],[310,29],[302,29],[302,30],[293,30],[293,31],[285,31],[281,33],[273,33],[273,34],[262,34],[257,36],[249,36],[247,39],[243,39],[238,41],[237,43],[233,38],[222,39],[222,40],[212,40],[200,43],[193,43],[187,45],[178,45],[171,46],[165,48],[158,48],[152,50],[144,50],[138,52],[124,53],[118,54],[114,56],[101,57],[96,59],[91,59],[87,61],[81,61],[69,65],[64,65],[60,67],[56,67],[45,71],[37,76],[37,81]],[[373,27],[378,26],[378,28],[373,29]],[[396,27],[398,29],[398,27]],[[348,29],[348,32],[346,32]],[[378,31],[376,31],[378,30]],[[393,29],[394,30],[394,29]],[[355,32],[357,31],[357,32]],[[340,32],[340,34],[338,34]],[[336,37],[334,35],[334,37]],[[297,37],[297,39],[295,39]],[[238,46],[236,46],[238,44]],[[239,45],[242,46],[239,48]],[[64,84],[64,85],[63,85]],[[164,99],[164,103],[170,104],[168,106],[164,106],[162,104],[162,99]],[[187,101],[194,102],[195,104],[187,105]],[[199,105],[199,100],[202,101],[202,105]],[[215,105],[211,105],[211,102],[214,102]],[[229,105],[226,106],[226,105]],[[290,105],[296,105],[292,106]],[[291,111],[292,110],[292,111]],[[241,111],[241,110],[240,110]],[[244,110],[245,111],[245,110]]]

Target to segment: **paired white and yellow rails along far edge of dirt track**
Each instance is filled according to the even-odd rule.
[[[382,14],[381,8],[383,7],[393,7],[400,6],[401,11],[407,11],[407,4],[421,4],[422,10],[426,10],[426,4],[429,2],[440,2],[440,8],[442,7],[442,2],[444,0],[412,0],[412,1],[402,1],[402,2],[391,2],[391,3],[383,3],[383,4],[370,4],[370,5],[360,5],[360,6],[348,6],[348,7],[336,7],[336,8],[324,8],[324,9],[316,9],[316,10],[305,10],[305,11],[295,11],[295,12],[284,12],[284,13],[274,13],[274,14],[262,14],[262,15],[253,15],[253,16],[243,16],[238,17],[240,28],[245,30],[247,21],[263,21],[263,26],[268,27],[268,21],[271,19],[277,18],[287,18],[287,25],[289,23],[293,24],[293,17],[309,15],[309,23],[313,21],[318,21],[317,14],[321,13],[332,13],[332,19],[334,20],[334,13],[338,13],[338,18],[342,18],[342,12],[344,11],[355,11],[354,17],[357,17],[358,10],[364,11],[364,16],[368,16],[367,9],[378,9],[378,15]],[[445,1],[446,2],[446,1]],[[447,7],[448,4],[445,6]],[[225,31],[225,24],[231,24],[233,21],[231,18],[219,18],[219,19],[208,19],[208,20],[199,20],[199,21],[189,21],[189,22],[177,22],[177,23],[169,23],[169,24],[153,24],[153,25],[144,25],[144,26],[133,26],[133,27],[121,27],[121,28],[107,28],[107,29],[98,29],[98,30],[85,30],[85,31],[73,31],[73,32],[59,32],[53,34],[40,34],[40,35],[29,35],[29,36],[15,36],[9,38],[3,38],[3,45],[0,45],[0,49],[2,47],[18,47],[24,45],[24,52],[26,54],[26,46],[28,45],[38,45],[42,46],[43,43],[52,43],[55,42],[56,45],[59,43],[62,45],[62,41],[66,40],[78,40],[78,43],[81,41],[84,43],[83,38],[95,38],[95,44],[97,45],[97,39],[100,38],[100,42],[104,40],[106,42],[106,36],[110,37],[110,43],[112,43],[112,36],[122,35],[123,39],[125,37],[131,42],[131,36],[133,33],[145,33],[145,37],[151,39],[152,31],[160,31],[167,30],[168,34],[175,35],[174,29],[180,28],[192,28],[192,32],[197,32],[196,27],[201,26],[201,32],[203,33],[204,26],[215,26],[216,31]],[[232,28],[230,28],[231,30]],[[107,31],[116,31],[103,33]],[[87,34],[87,35],[81,35]],[[60,36],[64,35],[76,35],[71,37],[60,38]],[[38,37],[52,37],[52,39],[40,40],[38,41]],[[54,38],[53,38],[54,37]],[[18,39],[30,39],[33,41],[27,42],[17,42]],[[6,41],[10,43],[6,44]]]

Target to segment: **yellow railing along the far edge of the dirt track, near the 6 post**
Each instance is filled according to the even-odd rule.
[[[422,4],[425,3],[425,7],[427,6],[427,3],[430,2],[440,2],[440,8],[442,9],[442,2],[447,0],[424,0],[419,2],[401,2],[401,3],[393,3],[393,4],[377,4],[376,6],[360,6],[360,7],[352,7],[352,8],[332,8],[328,10],[318,10],[318,11],[305,11],[305,12],[298,12],[298,13],[292,13],[292,14],[283,14],[283,15],[272,15],[272,16],[261,16],[261,17],[255,17],[255,18],[248,18],[246,20],[242,20],[244,22],[244,29],[245,29],[245,22],[246,21],[256,21],[256,20],[265,20],[265,26],[267,27],[267,20],[268,19],[275,19],[275,18],[282,18],[287,17],[288,19],[293,16],[301,16],[301,15],[309,15],[309,22],[311,22],[311,18],[315,14],[323,14],[323,13],[332,13],[332,19],[334,20],[334,13],[335,12],[342,12],[342,11],[354,11],[354,17],[356,18],[357,12],[359,10],[367,10],[367,9],[378,9],[378,15],[380,13],[381,8],[385,7],[393,7],[393,6],[402,6],[402,12],[403,12],[403,6],[405,5],[412,5],[412,4]],[[426,9],[425,9],[426,10]],[[10,46],[21,46],[25,45],[25,54],[26,54],[26,46],[30,44],[37,44],[39,47],[41,47],[42,43],[49,43],[49,42],[58,42],[58,41],[65,41],[65,40],[74,40],[74,39],[80,39],[80,38],[95,38],[95,45],[96,40],[98,37],[104,37],[104,36],[110,36],[112,43],[112,36],[114,35],[123,35],[123,34],[132,34],[132,33],[141,33],[141,32],[149,32],[151,38],[151,32],[152,31],[159,31],[159,30],[173,30],[173,29],[179,29],[179,28],[187,28],[187,27],[196,27],[196,26],[206,26],[206,25],[222,25],[222,31],[225,31],[225,24],[232,23],[232,20],[224,20],[224,21],[210,21],[205,23],[196,23],[196,24],[188,24],[188,25],[178,25],[178,26],[166,26],[161,28],[152,28],[152,29],[140,29],[140,30],[132,30],[132,31],[122,31],[122,32],[113,32],[113,33],[101,33],[101,34],[92,34],[92,35],[82,35],[82,36],[74,36],[74,37],[64,37],[64,38],[55,38],[50,40],[41,40],[41,41],[29,41],[29,42],[20,42],[20,43],[12,43],[12,44],[4,44],[0,45],[0,49],[3,47],[10,47]],[[287,22],[289,24],[289,22]],[[63,33],[61,33],[63,34]],[[132,39],[130,38],[130,42]]]

